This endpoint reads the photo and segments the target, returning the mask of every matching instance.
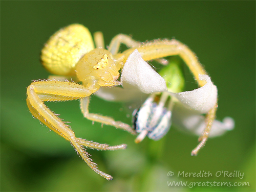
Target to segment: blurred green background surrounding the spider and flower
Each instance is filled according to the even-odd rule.
[[[114,177],[106,181],[69,142],[32,118],[26,106],[26,87],[49,75],[39,62],[43,44],[71,23],[102,31],[105,44],[118,33],[139,41],[175,37],[187,44],[218,87],[217,118],[230,116],[236,127],[209,139],[194,157],[196,136],[172,128],[160,141],[146,138],[136,145],[129,133],[92,125],[78,101],[47,103],[72,122],[76,136],[127,143],[122,151],[88,150],[99,169]],[[195,87],[194,82],[186,85]],[[90,109],[131,123],[120,103],[94,96]],[[169,171],[175,175],[168,177]],[[177,177],[179,171],[213,176]],[[240,171],[244,177],[216,177],[218,171]],[[250,186],[190,188],[167,181],[242,181]],[[1,191],[255,191],[255,1],[1,1]]]

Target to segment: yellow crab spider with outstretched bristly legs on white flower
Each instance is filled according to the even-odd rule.
[[[91,33],[87,28],[79,24],[73,24],[60,29],[45,44],[41,53],[41,62],[44,67],[54,76],[47,80],[34,81],[27,88],[27,105],[40,122],[51,130],[71,142],[78,155],[102,177],[112,180],[112,176],[101,172],[97,164],[89,158],[86,148],[96,150],[125,149],[126,145],[109,146],[93,141],[77,138],[68,125],[61,121],[45,104],[46,101],[69,101],[80,100],[80,109],[84,117],[91,121],[105,125],[111,125],[136,134],[131,126],[122,122],[114,121],[111,117],[89,112],[90,95],[102,86],[117,86],[122,82],[117,81],[119,70],[123,68],[127,58],[136,49],[143,60],[157,60],[162,64],[167,56],[179,55],[193,73],[199,86],[205,81],[199,80],[199,74],[206,75],[206,71],[198,62],[197,57],[188,47],[181,42],[173,40],[154,40],[141,43],[133,40],[130,36],[119,34],[115,36],[108,50],[104,49],[103,35],[101,32],[94,34],[94,47]],[[119,52],[120,44],[125,44],[129,49]],[[68,81],[71,79],[72,81]],[[82,82],[79,84],[78,82]],[[205,142],[210,131],[212,121],[215,119],[217,104],[206,117],[206,129],[200,137],[198,147],[193,151],[197,154]]]

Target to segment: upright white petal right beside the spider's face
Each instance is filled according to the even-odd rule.
[[[164,79],[142,59],[138,50],[127,58],[122,69],[121,81],[138,87],[143,93],[167,90]],[[126,88],[125,84],[123,87]]]

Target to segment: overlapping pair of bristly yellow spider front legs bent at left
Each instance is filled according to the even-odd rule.
[[[33,116],[39,119],[39,121],[44,123],[51,130],[70,141],[77,154],[81,156],[92,170],[102,177],[112,180],[113,178],[111,175],[98,170],[97,164],[89,158],[90,155],[86,152],[84,147],[97,150],[117,150],[125,149],[126,145],[109,146],[77,138],[69,126],[63,123],[61,119],[44,104],[45,101],[68,101],[85,98],[91,95],[94,91],[95,90],[93,89],[71,82],[34,82],[27,88],[27,105]]]

